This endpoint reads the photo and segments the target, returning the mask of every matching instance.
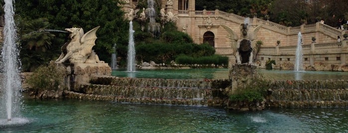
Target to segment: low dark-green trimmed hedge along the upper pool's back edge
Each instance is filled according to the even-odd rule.
[[[186,55],[180,55],[175,59],[177,64],[215,64],[215,65],[227,65],[229,58],[225,56],[213,55],[202,57],[190,57]]]

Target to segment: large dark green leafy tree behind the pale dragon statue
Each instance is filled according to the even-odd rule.
[[[46,19],[50,23],[47,29],[81,27],[87,32],[101,26],[93,49],[101,60],[109,62],[113,45],[123,48],[128,39],[128,23],[123,20],[124,12],[117,3],[118,0],[20,0],[15,2],[15,12],[23,20]],[[56,37],[66,39],[64,34]],[[52,42],[53,45],[63,44]],[[123,54],[118,50],[117,53]]]

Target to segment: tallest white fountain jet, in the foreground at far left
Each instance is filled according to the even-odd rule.
[[[0,127],[8,125],[18,125],[27,123],[28,120],[19,118],[20,105],[21,105],[21,83],[19,77],[19,68],[20,65],[18,56],[19,50],[16,44],[16,28],[13,20],[13,4],[12,0],[5,0],[4,5],[5,12],[5,26],[3,28],[4,41],[1,50],[1,71],[2,79],[1,85],[3,89],[0,92],[5,92],[1,98],[1,117],[6,114],[6,120],[0,119]],[[5,104],[5,105],[2,105]],[[4,107],[4,108],[3,108]],[[4,113],[4,111],[6,113]]]

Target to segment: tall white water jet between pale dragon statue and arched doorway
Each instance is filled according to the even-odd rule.
[[[129,22],[129,40],[128,40],[128,54],[127,54],[127,71],[135,71],[135,48],[134,48],[134,30],[133,22]]]

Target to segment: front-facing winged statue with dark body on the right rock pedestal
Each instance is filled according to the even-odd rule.
[[[252,47],[251,42],[255,40],[255,33],[260,29],[261,25],[251,29],[248,23],[240,24],[240,37],[228,26],[221,25],[230,34],[228,38],[232,41],[232,55],[236,58],[237,64],[252,64]]]

